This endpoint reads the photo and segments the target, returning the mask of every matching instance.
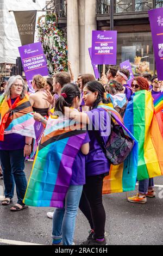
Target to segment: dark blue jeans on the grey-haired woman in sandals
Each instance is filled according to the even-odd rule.
[[[5,187],[4,195],[12,198],[14,196],[14,185],[16,185],[17,203],[21,205],[23,205],[23,198],[27,188],[23,151],[23,149],[0,150],[0,162]]]

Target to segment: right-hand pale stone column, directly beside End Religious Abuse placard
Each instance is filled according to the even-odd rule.
[[[88,48],[92,45],[92,30],[96,30],[96,0],[78,0],[80,72],[94,75]]]

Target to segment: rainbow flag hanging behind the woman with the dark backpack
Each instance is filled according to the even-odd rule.
[[[117,166],[111,164],[109,175],[104,178],[103,194],[120,193],[135,190],[137,177],[137,161],[138,161],[138,143],[135,137],[124,126],[121,115],[107,104],[101,104],[98,108],[104,108],[111,112],[116,122],[123,127],[135,143],[134,147],[128,155],[127,159]]]

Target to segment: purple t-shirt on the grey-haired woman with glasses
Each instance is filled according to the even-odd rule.
[[[15,102],[15,99],[11,99],[11,104]],[[0,141],[0,150],[17,150],[23,149],[26,144],[26,137],[17,133],[10,133],[4,135],[4,141]]]

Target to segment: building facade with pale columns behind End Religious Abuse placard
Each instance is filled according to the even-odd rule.
[[[50,1],[59,27],[67,31],[68,55],[75,74],[91,72],[88,47],[92,30],[110,30],[110,2],[114,5],[117,31],[117,65],[130,60],[134,74],[153,72],[155,62],[148,10],[163,7],[160,0],[67,0]]]

